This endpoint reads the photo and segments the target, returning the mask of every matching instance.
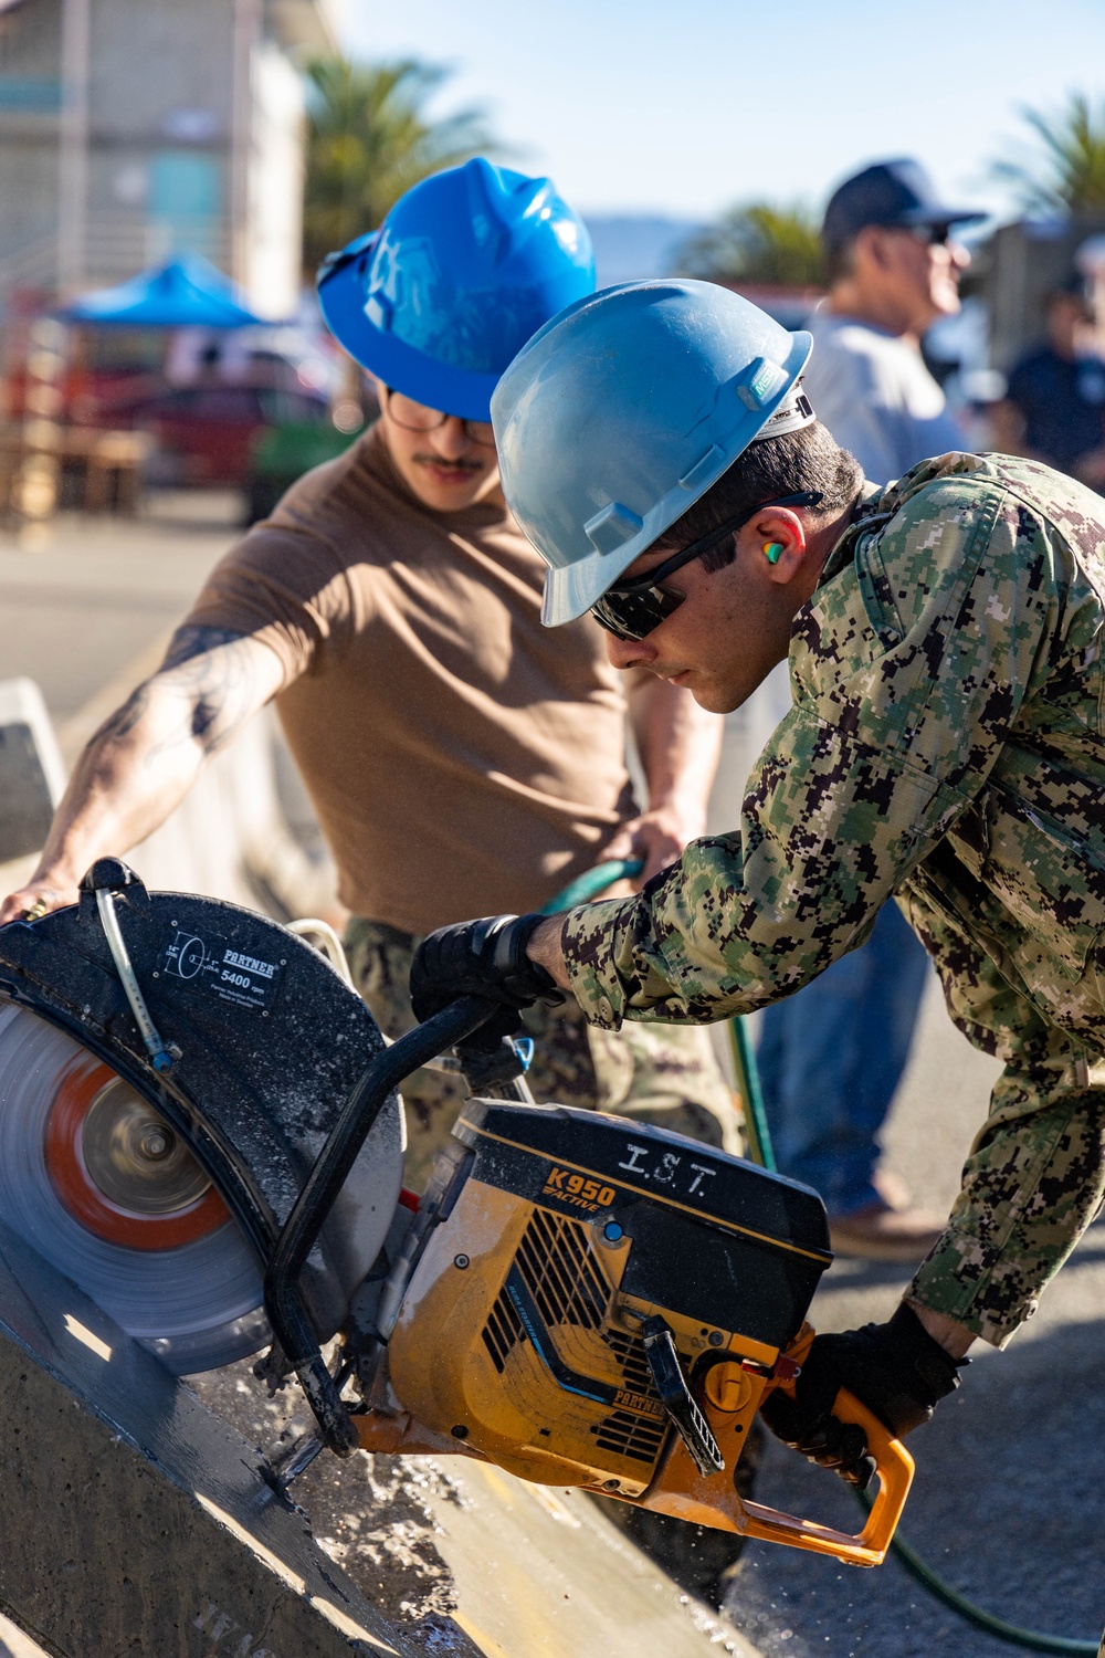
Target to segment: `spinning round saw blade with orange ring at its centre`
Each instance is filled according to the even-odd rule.
[[[89,1129],[86,1159],[89,1119],[96,1132]],[[161,1132],[152,1109],[78,1041],[27,1008],[0,1008],[0,1215],[182,1376],[255,1353],[268,1325],[253,1252],[234,1220],[222,1219],[217,1194],[204,1190],[194,1159],[186,1157],[199,1179],[182,1172],[179,1142],[176,1156],[166,1156],[166,1137],[172,1142],[172,1131]],[[134,1180],[126,1184],[133,1144],[166,1159],[169,1195],[159,1214],[151,1215],[156,1179],[146,1180],[141,1200],[128,1197],[138,1190]]]

